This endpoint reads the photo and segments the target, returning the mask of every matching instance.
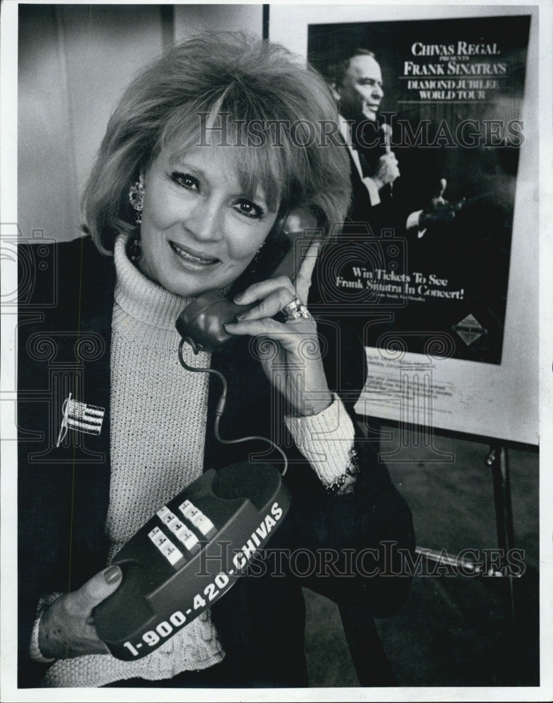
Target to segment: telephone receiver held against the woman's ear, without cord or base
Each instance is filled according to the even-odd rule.
[[[274,268],[267,271],[264,279],[288,276],[294,280],[307,250],[305,245],[321,237],[322,228],[317,228],[317,218],[309,210],[296,208],[282,214],[267,236],[265,249],[267,244],[272,242],[277,251]],[[269,256],[272,254],[267,253]],[[231,298],[238,292],[234,290],[230,297],[223,295],[219,290],[203,293],[179,314],[175,326],[196,354],[217,352],[231,340],[236,340],[236,336],[229,335],[224,325],[236,322],[236,315],[258,304],[236,304]]]

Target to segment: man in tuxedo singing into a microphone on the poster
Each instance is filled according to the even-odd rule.
[[[393,129],[383,113],[379,62],[372,51],[356,49],[330,70],[331,88],[341,115],[340,131],[351,162],[350,219],[367,222],[373,233],[394,227],[422,238],[428,226],[452,221],[462,203],[443,197],[447,181],[436,158],[417,149],[392,150]],[[398,160],[399,155],[399,160]]]

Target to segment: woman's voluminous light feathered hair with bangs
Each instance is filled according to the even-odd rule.
[[[260,183],[269,206],[306,207],[320,226],[339,225],[350,166],[336,138],[321,138],[333,124],[324,79],[279,44],[223,32],[174,46],[136,76],[108,122],[82,198],[85,231],[113,251],[117,233],[134,228],[129,187],[139,172],[168,144],[182,153],[216,133],[234,148],[244,187]]]

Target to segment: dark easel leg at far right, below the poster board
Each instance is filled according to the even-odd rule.
[[[513,576],[509,574],[507,553],[514,547],[513,510],[511,506],[511,482],[509,479],[509,461],[507,449],[501,444],[490,446],[490,453],[485,460],[492,470],[493,496],[495,503],[495,522],[497,524],[497,543],[502,553],[502,600],[505,619],[506,661],[505,672],[511,685],[519,683],[517,671],[516,617],[514,603]]]

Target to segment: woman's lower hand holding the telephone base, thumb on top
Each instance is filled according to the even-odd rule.
[[[46,659],[70,659],[84,654],[109,654],[98,638],[92,611],[120,585],[120,567],[111,566],[73,593],[64,593],[44,611],[39,649]]]

